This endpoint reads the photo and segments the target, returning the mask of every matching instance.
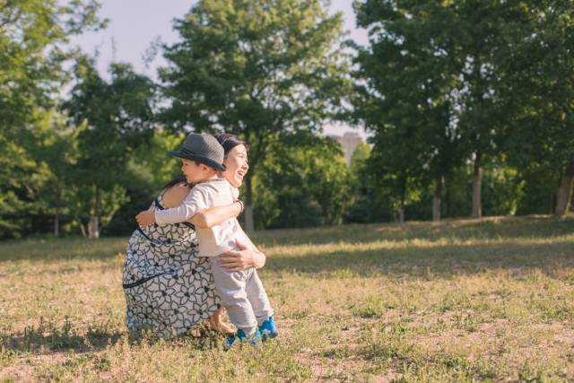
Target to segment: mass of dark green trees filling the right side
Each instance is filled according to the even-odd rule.
[[[356,47],[353,58],[351,116],[374,133],[371,176],[400,220],[405,211],[428,216],[421,202],[435,220],[568,211],[571,1],[356,7],[370,46]]]

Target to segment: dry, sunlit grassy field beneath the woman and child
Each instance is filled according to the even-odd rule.
[[[282,334],[128,335],[126,238],[0,245],[0,381],[573,381],[574,220],[265,231]]]

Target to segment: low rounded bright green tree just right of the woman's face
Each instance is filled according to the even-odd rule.
[[[352,178],[343,148],[309,133],[275,141],[255,179],[259,227],[309,227],[343,222]]]

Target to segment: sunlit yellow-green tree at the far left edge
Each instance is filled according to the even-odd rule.
[[[38,185],[30,180],[41,166],[23,142],[65,83],[64,63],[75,55],[66,48],[70,36],[104,25],[99,7],[95,0],[0,0],[0,236],[26,230],[37,210]]]

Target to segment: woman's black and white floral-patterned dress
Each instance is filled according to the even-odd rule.
[[[152,210],[164,209],[162,195]],[[208,259],[197,257],[196,230],[188,222],[138,227],[127,245],[122,285],[127,327],[161,337],[193,329],[220,306]]]

